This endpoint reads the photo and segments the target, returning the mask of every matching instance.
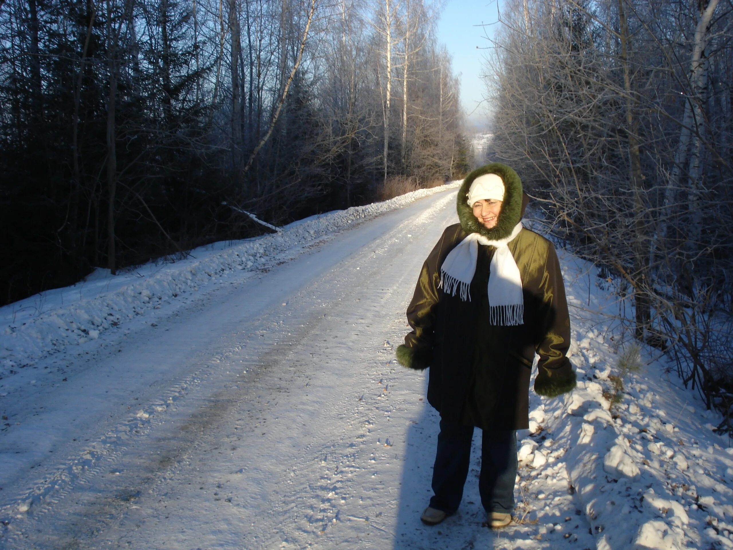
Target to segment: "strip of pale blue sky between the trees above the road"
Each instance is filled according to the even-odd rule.
[[[446,0],[438,21],[438,41],[453,57],[454,73],[460,74],[461,103],[466,114],[475,109],[468,117],[474,124],[485,121],[486,104],[479,105],[485,87],[479,75],[486,51],[480,48],[489,45],[486,35],[493,37],[498,28],[497,2],[501,6],[501,0]]]

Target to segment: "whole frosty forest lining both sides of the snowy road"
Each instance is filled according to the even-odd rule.
[[[488,158],[731,431],[732,1],[492,9]],[[438,16],[425,0],[0,0],[0,304],[463,177]]]

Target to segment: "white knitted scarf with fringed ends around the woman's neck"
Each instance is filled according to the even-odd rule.
[[[517,263],[509,251],[509,244],[522,230],[522,222],[515,225],[512,233],[504,239],[489,241],[479,233],[471,233],[458,243],[441,266],[441,282],[438,287],[460,299],[471,301],[469,287],[476,272],[479,243],[495,246],[489,272],[489,322],[496,326],[516,326],[524,323],[524,298],[522,278]]]

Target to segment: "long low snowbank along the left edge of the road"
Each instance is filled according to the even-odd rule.
[[[27,307],[24,315],[18,315],[17,304],[0,308],[0,319],[7,323],[0,329],[0,378],[18,372],[18,368],[32,365],[44,356],[58,353],[69,345],[96,340],[103,331],[119,327],[150,309],[161,309],[176,298],[196,292],[222,276],[234,271],[257,269],[276,254],[302,248],[304,244],[342,230],[356,221],[374,218],[459,185],[460,181],[457,181],[445,186],[419,189],[384,202],[335,210],[295,221],[281,228],[280,232],[237,241],[234,246],[216,254],[201,254],[205,256],[201,260],[183,260],[165,268],[151,269],[149,276],[141,275],[145,270],[140,269],[128,276],[127,284],[107,291],[104,285],[100,285],[97,293],[86,298],[76,293],[75,299],[69,301],[63,293],[68,289],[60,289],[46,293],[48,296],[59,296],[54,304],[54,300],[45,301],[46,297],[42,293],[26,298],[26,301],[45,301],[45,307]],[[206,249],[196,249],[194,255],[198,256],[197,252]],[[28,309],[31,310],[30,314]]]

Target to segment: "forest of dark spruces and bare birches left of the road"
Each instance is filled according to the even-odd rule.
[[[437,15],[0,0],[0,305],[462,176]]]

